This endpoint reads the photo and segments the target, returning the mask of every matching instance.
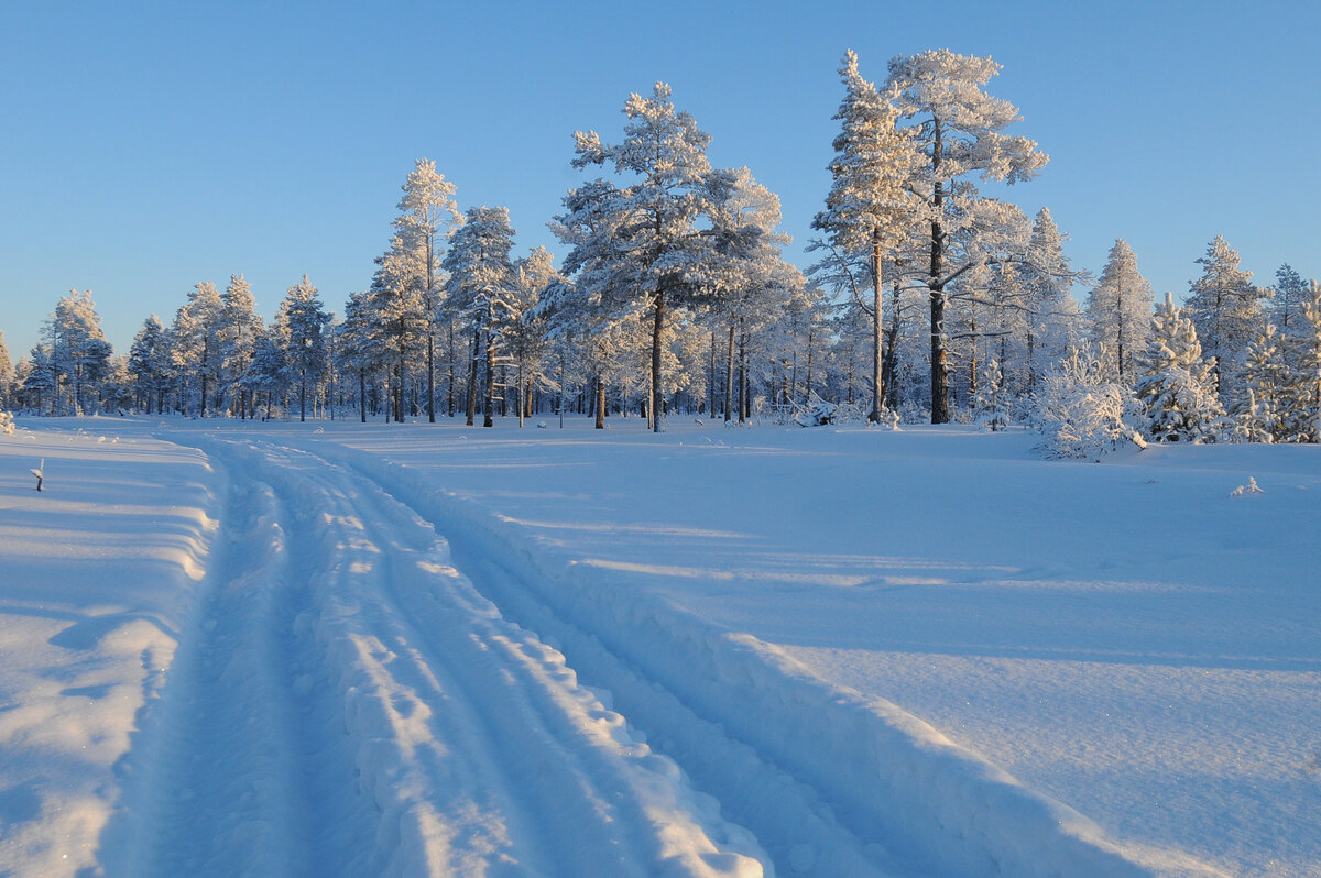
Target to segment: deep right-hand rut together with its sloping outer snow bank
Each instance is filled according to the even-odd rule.
[[[506,617],[552,639],[587,683],[753,829],[783,874],[1210,875],[1180,852],[1107,837],[1075,811],[897,706],[823,684],[770,644],[614,588],[515,524],[396,463],[329,442],[445,531]]]

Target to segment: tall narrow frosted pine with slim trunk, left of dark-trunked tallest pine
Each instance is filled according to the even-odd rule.
[[[844,53],[840,78],[844,99],[835,119],[841,131],[835,137],[834,178],[826,195],[826,210],[812,227],[826,232],[841,251],[865,251],[872,260],[872,411],[878,422],[885,408],[882,382],[882,284],[881,267],[890,251],[909,236],[918,205],[908,184],[917,166],[911,131],[897,127],[898,111],[892,103],[893,86],[882,95],[857,70],[857,55]]]

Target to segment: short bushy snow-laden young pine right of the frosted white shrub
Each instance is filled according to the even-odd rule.
[[[1137,397],[1147,416],[1145,433],[1159,442],[1215,442],[1222,437],[1225,409],[1215,393],[1215,376],[1202,359],[1197,327],[1169,293],[1152,317]]]

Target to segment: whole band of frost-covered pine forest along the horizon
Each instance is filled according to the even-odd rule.
[[[550,219],[559,267],[540,247],[515,255],[509,211],[461,210],[419,158],[370,288],[341,313],[304,275],[268,323],[235,273],[116,353],[91,292],[71,290],[17,363],[0,335],[0,409],[967,422],[1036,428],[1058,457],[1321,441],[1317,281],[1285,264],[1258,285],[1221,236],[1190,259],[1182,304],[1156,302],[1123,239],[1099,275],[1074,268],[1048,209],[979,189],[1048,164],[1009,133],[1021,118],[988,92],[997,70],[930,50],[877,84],[844,55],[806,268],[785,259],[775,194],[713,168],[711,137],[657,83],[627,98],[618,140],[575,133],[583,180]]]

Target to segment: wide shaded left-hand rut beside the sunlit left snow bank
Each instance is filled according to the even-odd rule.
[[[318,874],[292,702],[291,570],[266,485],[231,483],[225,531],[168,672],[106,871],[133,878]]]

